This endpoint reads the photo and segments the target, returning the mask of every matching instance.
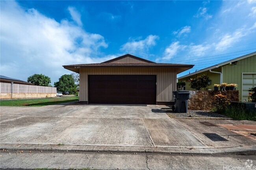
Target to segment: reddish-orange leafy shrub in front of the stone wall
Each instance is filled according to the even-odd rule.
[[[214,95],[212,100],[212,105],[217,109],[217,111],[221,111],[226,108],[226,106],[230,105],[228,97],[222,94]]]

